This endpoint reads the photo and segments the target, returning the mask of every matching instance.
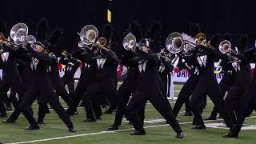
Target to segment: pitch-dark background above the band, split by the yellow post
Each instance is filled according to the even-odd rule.
[[[162,22],[163,31],[187,32],[188,23],[198,22],[210,35],[216,32],[248,33],[256,38],[254,1],[234,0],[114,0],[114,38],[122,39],[122,31],[134,19],[144,30],[153,20]],[[49,19],[50,27],[62,27],[63,42],[71,43],[86,24],[101,30],[106,23],[107,0],[2,0],[0,19],[11,27],[26,22],[30,32],[40,17]]]

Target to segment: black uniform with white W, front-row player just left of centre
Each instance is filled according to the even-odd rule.
[[[113,106],[117,106],[118,101],[118,91],[113,78],[113,74],[116,74],[118,60],[112,51],[98,50],[99,53],[100,55],[92,58],[91,64],[95,69],[95,81],[87,88],[83,96],[86,106],[86,122],[96,121],[91,102],[95,96],[106,94]]]

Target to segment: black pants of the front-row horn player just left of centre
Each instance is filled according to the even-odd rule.
[[[83,95],[83,102],[85,104],[87,118],[95,118],[91,100],[100,94],[106,94],[110,100],[110,103],[114,106],[117,105],[118,91],[114,81],[110,79],[107,81],[95,82],[87,88],[86,93]]]

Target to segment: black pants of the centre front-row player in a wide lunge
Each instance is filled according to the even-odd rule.
[[[172,110],[170,110],[170,107],[166,103],[166,99],[164,98],[162,91],[159,90],[158,92],[146,94],[139,89],[135,90],[133,96],[130,98],[126,112],[126,118],[127,120],[133,122],[135,130],[144,130],[140,113],[145,109],[145,105],[143,105],[143,103],[145,103],[147,100],[152,103],[154,108],[158,110],[163,118],[166,119],[175,132],[182,132],[182,129],[172,113]]]

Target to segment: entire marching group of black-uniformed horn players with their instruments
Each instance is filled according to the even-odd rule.
[[[255,109],[255,77],[250,77],[250,62],[256,58],[254,48],[231,46],[228,40],[213,46],[203,33],[188,36],[175,32],[166,39],[166,49],[156,54],[150,50],[150,38],[138,41],[130,32],[122,42],[125,50],[117,57],[110,42],[104,37],[98,38],[95,26],[84,26],[78,35],[81,40],[78,49],[72,54],[63,50],[62,58],[58,60],[50,50],[51,45],[37,42],[28,35],[24,23],[13,26],[11,39],[0,33],[0,69],[5,81],[0,85],[0,99],[11,89],[10,98],[15,108],[4,122],[15,122],[22,113],[30,123],[26,130],[38,130],[40,124],[46,124],[44,118],[49,112],[47,104],[50,104],[70,132],[75,132],[70,116],[78,114],[79,103],[82,101],[86,110],[83,121],[96,122],[101,120],[101,102],[106,97],[110,108],[105,113],[112,114],[117,110],[114,124],[108,130],[118,130],[123,116],[126,116],[134,126],[131,135],[145,135],[144,113],[149,100],[174,129],[176,138],[183,138],[176,119],[182,104],[189,102],[194,114],[193,129],[204,130],[203,101],[208,95],[214,102],[215,113],[219,113],[230,127],[230,132],[224,137],[237,138],[244,119]],[[214,75],[216,61],[224,73],[220,84]],[[63,78],[59,76],[58,62],[66,65]],[[128,73],[119,89],[116,78],[118,63],[126,66]],[[81,76],[74,89],[74,73],[80,65]],[[189,70],[190,78],[172,109],[166,98],[165,80],[174,67]],[[59,96],[69,106],[67,110],[60,104]],[[35,99],[39,104],[38,121],[31,108]],[[214,119],[214,116],[209,119]]]

